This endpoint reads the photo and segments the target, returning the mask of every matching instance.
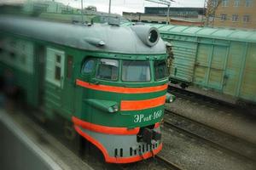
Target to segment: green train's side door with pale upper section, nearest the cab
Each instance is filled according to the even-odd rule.
[[[51,110],[68,117],[74,111],[73,55],[47,48],[45,100]]]

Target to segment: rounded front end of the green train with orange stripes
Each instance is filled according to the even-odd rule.
[[[72,118],[76,131],[112,163],[141,161],[160,152],[160,122],[171,100],[166,97],[166,49],[158,31],[144,26],[125,30],[137,42],[133,54],[86,54],[76,80],[82,104]]]

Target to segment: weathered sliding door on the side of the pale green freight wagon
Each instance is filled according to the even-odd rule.
[[[227,54],[227,46],[199,44],[195,63],[195,84],[222,90]]]

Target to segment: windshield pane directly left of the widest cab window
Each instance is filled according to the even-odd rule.
[[[116,81],[118,79],[119,61],[116,59],[101,59],[97,78]]]

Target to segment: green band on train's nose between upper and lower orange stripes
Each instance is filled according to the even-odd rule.
[[[164,111],[164,105],[142,111],[118,111],[116,113],[108,113],[93,107],[86,102],[86,99],[110,100],[119,104],[121,100],[154,99],[156,97],[165,95],[166,91],[150,94],[117,94],[91,90],[83,87],[77,88],[76,91],[76,94],[79,95],[77,99],[81,99],[82,102],[76,102],[78,111],[76,111],[74,115],[81,117],[83,120],[109,127],[144,127],[154,124],[155,122],[160,122],[160,120],[163,118],[162,115],[150,122],[134,122],[134,116],[143,115],[144,117],[147,117],[153,115],[155,111]],[[79,103],[81,105],[78,105]]]

